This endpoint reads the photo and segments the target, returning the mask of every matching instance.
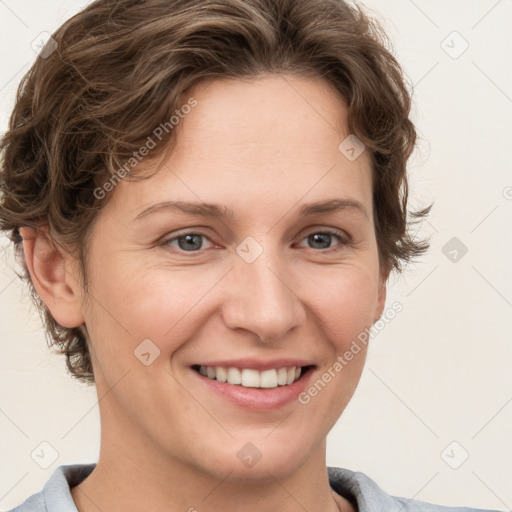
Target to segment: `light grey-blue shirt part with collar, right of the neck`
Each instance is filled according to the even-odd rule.
[[[448,507],[425,501],[391,496],[360,471],[328,467],[331,488],[357,506],[358,512],[499,512],[468,507]]]

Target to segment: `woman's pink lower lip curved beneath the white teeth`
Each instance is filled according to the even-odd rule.
[[[271,411],[298,401],[298,396],[306,388],[313,370],[314,367],[309,367],[292,384],[277,386],[277,388],[246,388],[241,385],[219,382],[205,377],[195,370],[191,371],[208,389],[232,404],[255,411]]]

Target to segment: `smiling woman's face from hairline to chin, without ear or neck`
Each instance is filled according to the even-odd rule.
[[[384,307],[370,155],[340,151],[347,109],[322,81],[215,80],[190,96],[170,158],[121,182],[92,227],[82,312],[102,436],[222,478],[284,477],[323,460],[365,346],[333,365]],[[311,207],[335,201],[351,205]],[[246,369],[249,387],[200,365]],[[309,369],[274,387],[295,366]]]

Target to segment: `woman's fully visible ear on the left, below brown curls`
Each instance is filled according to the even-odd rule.
[[[47,226],[20,228],[25,263],[37,293],[62,327],[84,323],[75,259],[52,239]]]

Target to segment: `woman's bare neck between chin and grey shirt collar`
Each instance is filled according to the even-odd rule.
[[[119,434],[102,430],[97,466],[71,490],[79,512],[225,512],[233,509],[233,503],[244,512],[354,511],[329,485],[325,440],[288,474],[283,468],[261,467],[256,473],[255,465],[254,473],[240,475],[235,465],[219,475],[205,469],[201,461],[191,464],[162,455],[161,448],[152,446],[141,432]]]

